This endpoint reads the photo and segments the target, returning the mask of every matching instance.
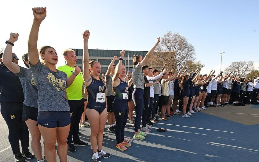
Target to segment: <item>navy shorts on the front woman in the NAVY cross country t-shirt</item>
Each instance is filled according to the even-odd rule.
[[[69,111],[40,111],[37,125],[47,128],[65,127],[70,124],[70,120]]]

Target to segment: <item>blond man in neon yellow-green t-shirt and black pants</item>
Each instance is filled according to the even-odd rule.
[[[60,66],[57,69],[67,74],[67,99],[70,107],[70,131],[67,137],[67,150],[70,153],[76,151],[75,146],[86,146],[87,143],[79,139],[79,122],[84,112],[84,100],[82,86],[84,83],[81,69],[76,66],[75,51],[67,49],[63,53],[66,60],[66,65]],[[73,140],[72,140],[73,138]]]

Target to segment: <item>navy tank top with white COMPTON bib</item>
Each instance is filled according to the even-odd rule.
[[[87,108],[99,109],[105,108],[105,84],[102,80],[97,80],[92,77],[92,83],[86,87],[88,92]]]

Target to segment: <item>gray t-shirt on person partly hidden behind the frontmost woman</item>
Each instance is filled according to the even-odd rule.
[[[20,72],[14,73],[21,81],[24,91],[24,105],[38,108],[38,90],[37,84],[32,77],[31,70],[20,66]]]

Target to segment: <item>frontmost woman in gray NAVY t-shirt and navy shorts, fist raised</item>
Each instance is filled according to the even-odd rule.
[[[33,24],[28,39],[31,72],[38,89],[38,128],[45,141],[44,154],[48,161],[67,161],[67,137],[70,129],[70,107],[67,101],[67,74],[56,69],[58,56],[51,46],[37,49],[38,32],[46,17],[46,7],[33,8]],[[42,63],[39,60],[39,55]],[[57,154],[55,150],[56,141]]]

